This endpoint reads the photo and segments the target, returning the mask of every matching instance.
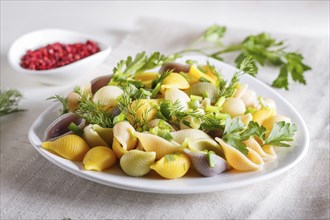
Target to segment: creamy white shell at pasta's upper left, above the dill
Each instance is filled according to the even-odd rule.
[[[111,108],[117,105],[117,98],[123,92],[124,91],[117,86],[104,86],[94,94],[93,102]]]

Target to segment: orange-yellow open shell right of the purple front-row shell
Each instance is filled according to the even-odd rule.
[[[234,147],[225,143],[222,139],[215,138],[215,140],[222,146],[227,162],[234,169],[239,171],[253,171],[262,169],[264,161],[260,155],[251,148],[247,147],[249,152],[248,155],[245,156]]]

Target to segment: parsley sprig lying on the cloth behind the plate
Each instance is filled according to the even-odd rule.
[[[240,67],[247,57],[251,56],[253,58],[253,61],[251,62],[253,68],[250,68],[250,71],[243,69],[243,71],[246,71],[252,76],[257,75],[258,64],[261,66],[271,64],[280,68],[278,77],[272,83],[273,87],[288,90],[289,75],[291,75],[293,81],[306,84],[304,73],[311,68],[303,63],[303,56],[301,54],[287,51],[287,46],[283,41],[277,41],[267,33],[260,33],[247,36],[239,44],[223,46],[222,40],[225,31],[226,27],[213,25],[206,29],[201,37],[192,43],[191,47],[176,54],[198,52],[218,60],[223,60],[221,57],[222,54],[239,52],[239,55],[235,59],[237,67]],[[212,48],[217,51],[208,52],[208,48],[198,48],[197,44],[201,42],[210,43]]]

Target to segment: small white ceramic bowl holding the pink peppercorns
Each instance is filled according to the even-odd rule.
[[[22,56],[28,50],[35,50],[47,44],[60,42],[64,44],[92,40],[100,47],[100,52],[71,64],[50,70],[29,70],[21,67]],[[88,76],[95,67],[104,61],[111,52],[111,47],[93,36],[61,29],[43,29],[25,34],[17,39],[9,49],[8,60],[16,71],[35,77],[39,82],[50,85],[64,85],[80,81]]]

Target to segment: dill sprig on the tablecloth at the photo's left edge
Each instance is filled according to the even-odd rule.
[[[18,108],[22,94],[16,89],[0,90],[0,116],[23,111]]]

